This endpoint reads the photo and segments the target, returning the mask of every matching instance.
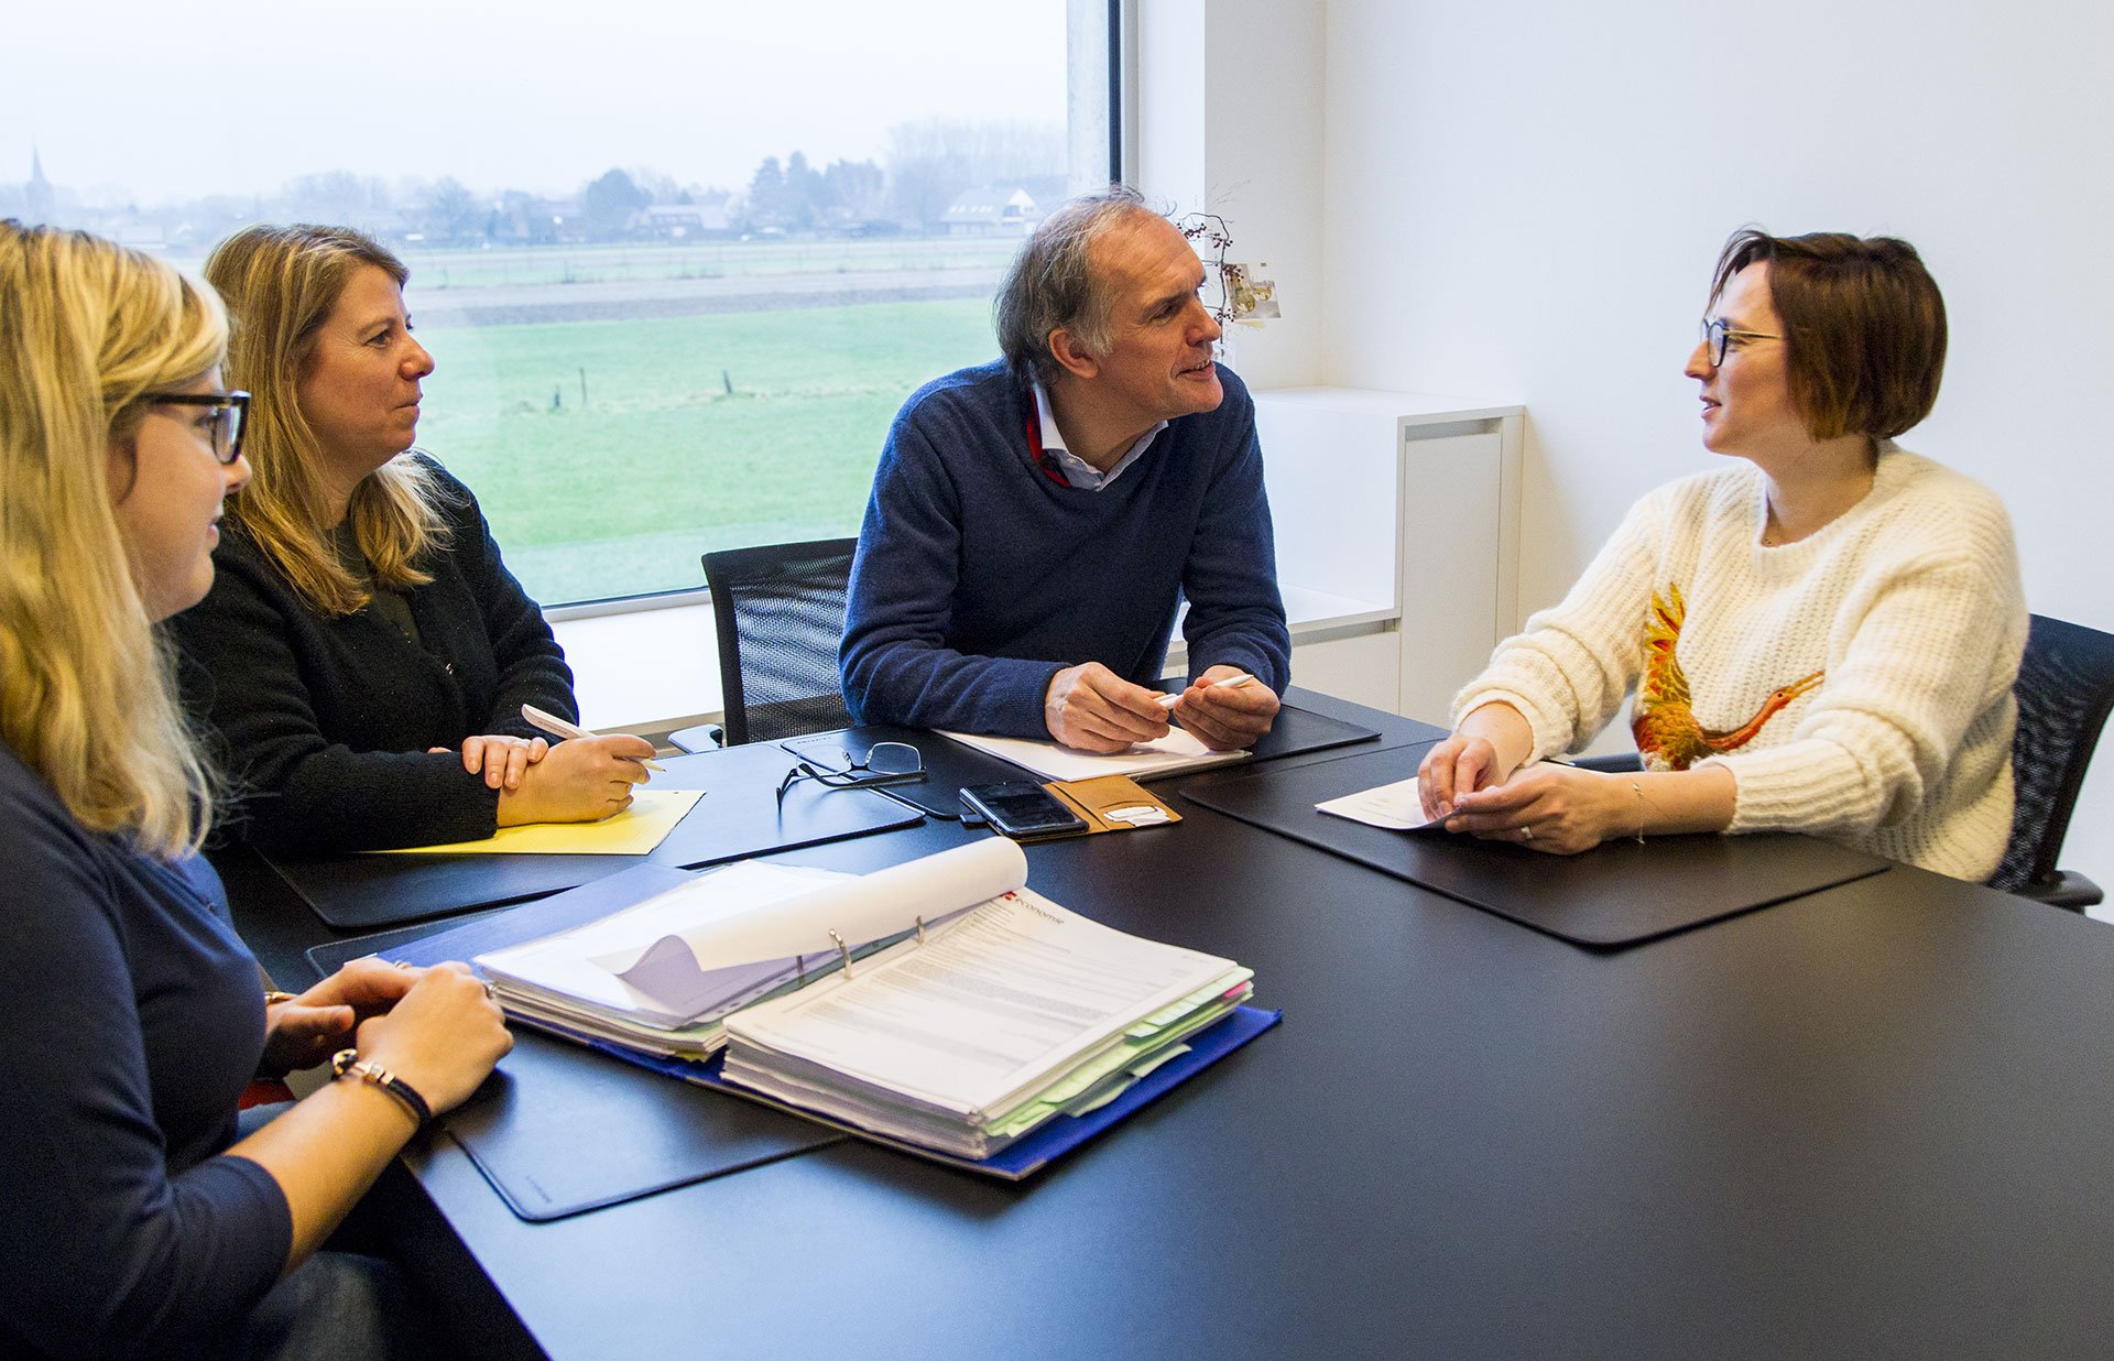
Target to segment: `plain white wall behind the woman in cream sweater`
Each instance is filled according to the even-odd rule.
[[[1205,11],[1139,2],[1146,25],[1161,4]],[[1903,442],[2006,499],[2034,611],[2114,630],[2097,412],[2114,393],[2114,6],[1205,13],[1205,194],[1243,245],[1277,251],[1302,317],[1237,363],[1268,385],[1524,402],[1522,607],[1562,594],[1636,495],[1708,465],[1681,366],[1717,247],[1755,222],[1924,251],[1953,342],[1936,412]],[[1156,66],[1148,44],[1144,82]],[[1279,245],[1306,241],[1319,296],[1313,262]],[[2114,888],[2114,742],[2065,862]]]

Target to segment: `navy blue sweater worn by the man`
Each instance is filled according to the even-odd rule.
[[[917,389],[888,431],[852,562],[852,714],[1046,738],[1059,670],[1099,661],[1158,680],[1182,598],[1190,676],[1237,666],[1281,693],[1292,636],[1256,406],[1232,370],[1218,374],[1218,410],[1171,421],[1104,490],[1036,467],[1034,395],[1004,363]]]

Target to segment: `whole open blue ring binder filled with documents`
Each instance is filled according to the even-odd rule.
[[[1027,858],[1004,837],[871,875],[757,862],[626,875],[643,900],[476,953],[509,1017],[947,1158],[981,1162],[1161,1065],[1139,1090],[1165,1088],[1275,1021],[1241,1008],[1251,970],[1027,890]],[[1237,1010],[1247,1027],[1192,1055],[1186,1040]],[[723,1046],[723,1069],[700,1063]]]

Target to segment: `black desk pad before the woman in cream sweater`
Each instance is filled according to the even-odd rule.
[[[1888,860],[1812,837],[1653,837],[1550,856],[1505,841],[1412,837],[1315,812],[1325,799],[1408,780],[1427,746],[1192,780],[1182,797],[1594,949],[1643,945],[1888,869]]]

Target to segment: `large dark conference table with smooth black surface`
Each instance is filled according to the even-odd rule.
[[[1298,702],[1406,767],[1431,733]],[[552,1357],[2114,1355],[2106,926],[1900,866],[1594,953],[1175,805],[1030,883],[1283,1025],[1023,1186],[843,1141],[526,1224],[425,1139],[450,1308]],[[230,888],[302,976],[330,930]]]

